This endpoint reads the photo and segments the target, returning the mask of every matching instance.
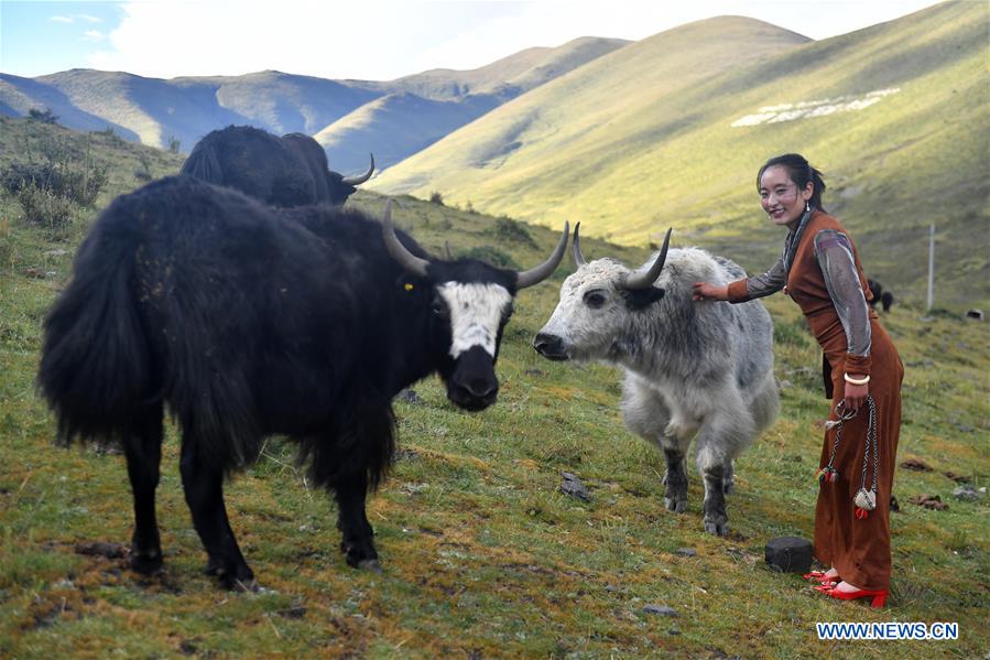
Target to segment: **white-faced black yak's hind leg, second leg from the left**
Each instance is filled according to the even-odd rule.
[[[217,575],[227,588],[253,589],[254,574],[244,561],[224,506],[224,473],[204,465],[193,442],[182,445],[182,485],[193,524],[206,548],[206,572]]]

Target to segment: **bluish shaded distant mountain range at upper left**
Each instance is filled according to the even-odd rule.
[[[474,71],[436,69],[384,83],[275,71],[168,80],[91,69],[36,78],[0,74],[0,113],[25,116],[32,108],[47,107],[70,128],[111,128],[124,139],[155,147],[178,140],[186,152],[209,131],[231,123],[276,134],[322,133],[331,145],[331,166],[348,172],[367,167],[372,150],[388,154],[379,159],[382,164],[398,162],[505,100],[625,43],[585,37],[556,48],[529,48]],[[414,126],[423,131],[416,137]],[[395,127],[395,143],[383,127]],[[360,158],[351,158],[357,153]]]

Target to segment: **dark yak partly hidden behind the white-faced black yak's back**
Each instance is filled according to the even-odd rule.
[[[179,174],[237,188],[272,206],[291,207],[344,204],[373,171],[372,156],[371,166],[360,176],[341,176],[329,170],[326,152],[309,136],[279,138],[250,126],[230,126],[199,140]]]

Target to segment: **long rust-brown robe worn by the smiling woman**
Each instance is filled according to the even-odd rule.
[[[839,480],[825,482],[819,487],[814,543],[818,561],[826,566],[835,566],[846,582],[866,589],[888,589],[891,572],[890,499],[901,430],[901,381],[904,378],[904,367],[877,313],[868,306],[860,310],[860,303],[849,296],[847,300],[835,300],[829,292],[819,251],[827,249],[825,246],[840,245],[847,250],[846,253],[851,252],[862,292],[861,304],[866,305],[866,301],[871,297],[859,255],[846,229],[834,217],[815,209],[797,240],[790,272],[779,262],[760,278],[732,282],[729,284],[729,302],[746,302],[783,286],[784,292],[801,306],[812,333],[825,353],[826,378],[829,378],[830,369],[831,382],[828,385],[831,386],[833,402],[829,420],[837,419],[835,408],[842,400],[846,387],[844,374],[870,376],[869,393],[877,407],[880,453],[877,508],[866,519],[860,520],[855,516],[856,505],[852,499],[862,483],[869,422],[868,408],[863,405],[859,414],[842,426],[842,437],[835,461]],[[836,289],[833,282],[833,291]],[[850,301],[856,313],[866,313],[869,318],[869,332],[857,332],[857,337],[853,338],[853,343],[862,343],[866,336],[866,350],[859,348],[860,354],[850,353],[851,344],[844,327],[844,321],[849,323]],[[837,306],[844,309],[842,314],[837,311]],[[867,318],[860,318],[864,331]],[[822,467],[828,463],[836,433],[837,428],[825,432],[819,463]],[[871,486],[872,473],[871,463],[867,489]]]

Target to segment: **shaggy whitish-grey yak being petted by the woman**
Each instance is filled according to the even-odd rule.
[[[574,229],[577,271],[533,339],[555,360],[605,360],[624,371],[625,424],[662,450],[667,463],[666,507],[687,508],[685,457],[697,435],[705,482],[705,530],[728,531],[725,496],[733,461],[776,419],[773,323],[759,302],[697,304],[694,282],[732,282],[741,268],[694,248],[663,248],[630,270],[613,259],[585,262]]]

